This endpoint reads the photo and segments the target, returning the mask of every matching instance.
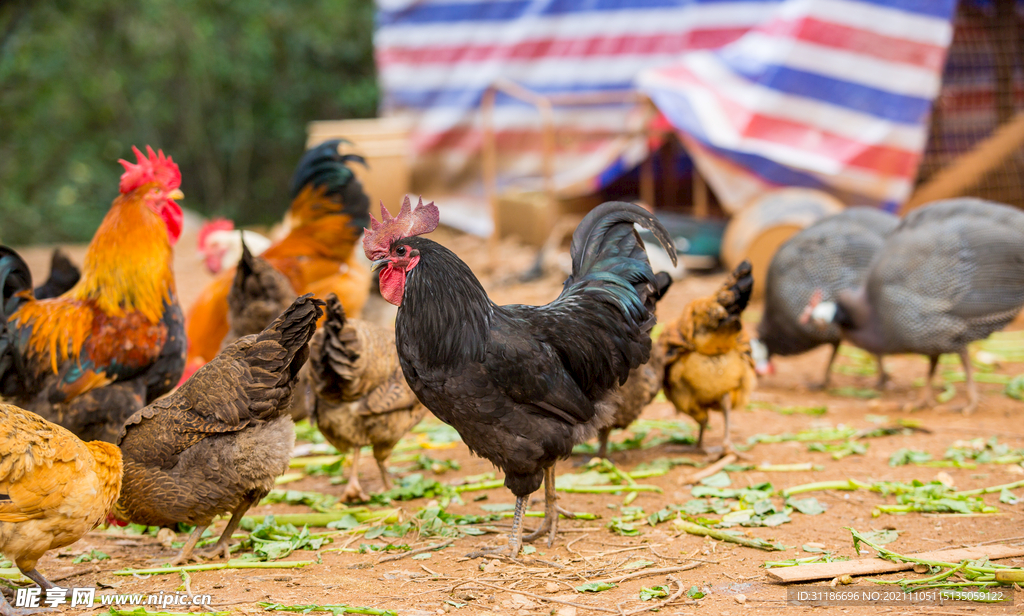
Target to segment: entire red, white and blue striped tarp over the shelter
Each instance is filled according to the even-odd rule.
[[[496,79],[544,94],[642,87],[715,166],[727,205],[717,178],[889,203],[921,158],[953,3],[379,0],[382,112],[414,122],[417,186],[445,190],[479,180],[478,107]],[[501,178],[523,185],[541,169],[540,117],[498,102]],[[646,153],[623,136],[642,125],[635,104],[558,108],[555,122],[563,190],[600,187]]]

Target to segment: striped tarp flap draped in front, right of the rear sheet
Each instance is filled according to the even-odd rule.
[[[720,199],[766,186],[897,207],[928,139],[954,0],[788,0],[714,50],[644,72]]]

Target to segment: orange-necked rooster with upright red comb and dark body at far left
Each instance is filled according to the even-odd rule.
[[[0,247],[0,395],[87,440],[115,440],[184,368],[171,269],[181,173],[163,151],[133,149],[138,163],[121,161],[121,195],[67,293],[36,300],[25,261]]]

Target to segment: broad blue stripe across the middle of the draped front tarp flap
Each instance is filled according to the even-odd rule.
[[[733,73],[772,90],[820,100],[891,122],[919,126],[926,122],[932,108],[930,98],[897,94],[781,64],[764,64],[752,61],[749,56],[716,55]]]

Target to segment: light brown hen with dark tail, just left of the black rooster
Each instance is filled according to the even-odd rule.
[[[327,318],[309,346],[309,377],[315,402],[310,416],[341,452],[352,451],[345,500],[367,500],[359,485],[359,448],[372,445],[384,489],[391,487],[384,463],[391,449],[427,409],[406,383],[394,329],[345,317],[337,296],[327,299]]]

